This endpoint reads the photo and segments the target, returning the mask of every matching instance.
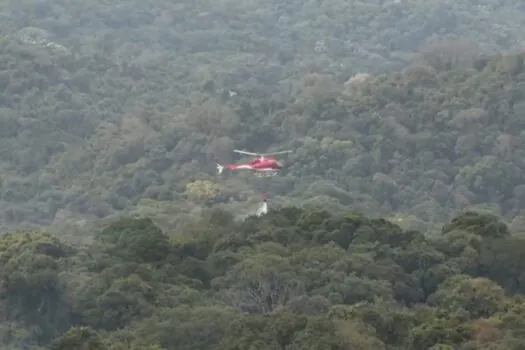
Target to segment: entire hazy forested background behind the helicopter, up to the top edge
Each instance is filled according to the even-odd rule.
[[[521,2],[3,5],[2,232],[174,229],[261,191],[404,227],[521,220],[522,55],[493,55],[523,47]],[[233,148],[294,153],[271,181],[217,177]]]

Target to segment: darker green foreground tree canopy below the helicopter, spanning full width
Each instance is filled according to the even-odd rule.
[[[37,349],[525,346],[525,240],[465,212],[439,234],[287,207],[184,233],[121,218],[72,247],[0,239],[0,335]]]

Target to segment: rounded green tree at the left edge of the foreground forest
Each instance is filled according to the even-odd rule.
[[[0,243],[0,300],[6,321],[42,330],[46,341],[67,327],[69,316],[60,262],[67,245],[46,234],[8,234]]]

